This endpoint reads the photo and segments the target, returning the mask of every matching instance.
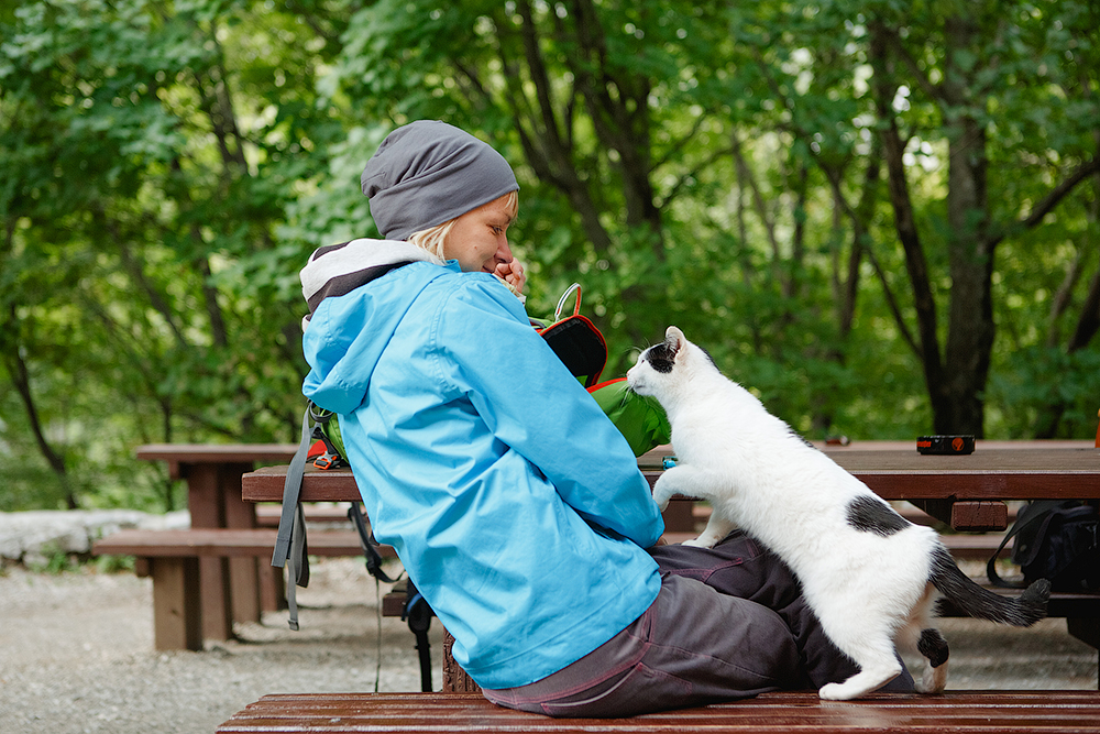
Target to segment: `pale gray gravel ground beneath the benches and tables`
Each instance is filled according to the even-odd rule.
[[[0,733],[209,734],[265,693],[375,690],[377,598],[363,563],[312,563],[298,600],[300,632],[272,613],[240,625],[239,640],[157,653],[148,579],[9,569],[0,574]],[[1069,637],[1063,620],[1026,631],[944,620],[942,628],[949,688],[1097,688],[1097,651]],[[439,690],[438,622],[431,645]],[[420,690],[413,635],[399,620],[382,620],[381,657],[378,690]]]

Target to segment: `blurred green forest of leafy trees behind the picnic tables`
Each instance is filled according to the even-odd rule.
[[[298,271],[420,118],[512,162],[605,379],[675,324],[807,438],[1097,429],[1094,0],[2,0],[0,511],[296,441]]]

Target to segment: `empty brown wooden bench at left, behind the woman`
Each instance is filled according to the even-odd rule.
[[[135,556],[141,577],[153,577],[154,644],[158,650],[202,649],[199,559],[271,560],[277,530],[272,528],[190,528],[119,530],[92,545],[96,556]],[[359,556],[355,530],[326,530],[307,536],[311,556]],[[395,557],[383,546],[384,557]],[[228,580],[227,580],[228,583]]]

